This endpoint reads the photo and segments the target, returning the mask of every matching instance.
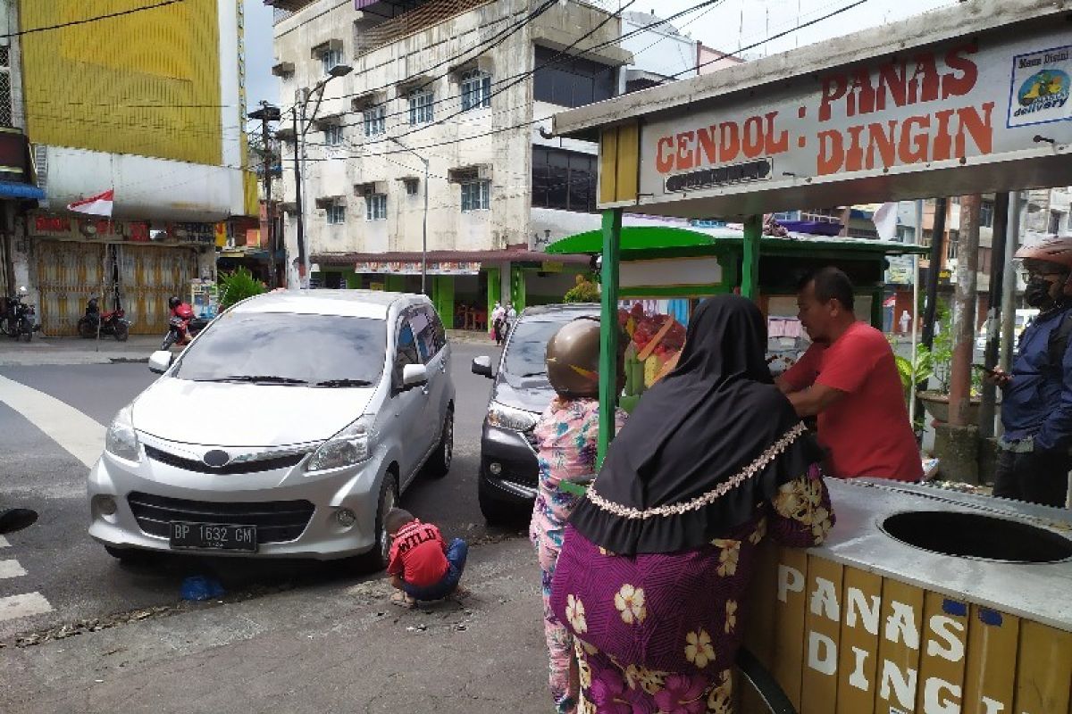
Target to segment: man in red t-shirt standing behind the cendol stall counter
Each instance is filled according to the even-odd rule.
[[[813,345],[775,384],[798,414],[818,415],[831,475],[919,481],[923,465],[893,350],[857,320],[852,303],[852,283],[836,268],[805,278],[796,304]]]

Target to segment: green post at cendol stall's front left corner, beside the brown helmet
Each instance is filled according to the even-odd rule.
[[[602,466],[607,447],[614,438],[614,409],[617,407],[617,263],[622,245],[622,209],[609,209],[602,216],[602,275],[599,331],[599,447],[596,470]]]

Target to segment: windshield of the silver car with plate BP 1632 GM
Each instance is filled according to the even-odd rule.
[[[224,313],[183,353],[193,381],[369,386],[384,370],[384,320],[294,313]]]

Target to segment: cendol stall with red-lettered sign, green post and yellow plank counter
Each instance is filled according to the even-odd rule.
[[[762,236],[763,214],[1066,185],[1070,58],[1060,3],[968,0],[556,115],[554,136],[599,145],[599,458],[620,396],[621,299],[740,286],[762,304],[818,249],[801,244],[764,274],[779,244]],[[630,246],[625,211],[743,231],[732,258],[659,246],[706,260],[679,262],[704,282],[628,260],[651,246]],[[829,485],[837,525],[825,544],[771,547],[757,568],[745,641],[774,684],[738,687],[733,711],[1072,714],[1068,511],[924,485]]]

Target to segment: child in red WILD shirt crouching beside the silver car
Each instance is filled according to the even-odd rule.
[[[447,546],[443,533],[402,508],[391,508],[384,520],[391,536],[387,574],[401,592],[391,601],[410,605],[414,601],[443,599],[458,589],[465,569],[468,545],[455,538]]]

